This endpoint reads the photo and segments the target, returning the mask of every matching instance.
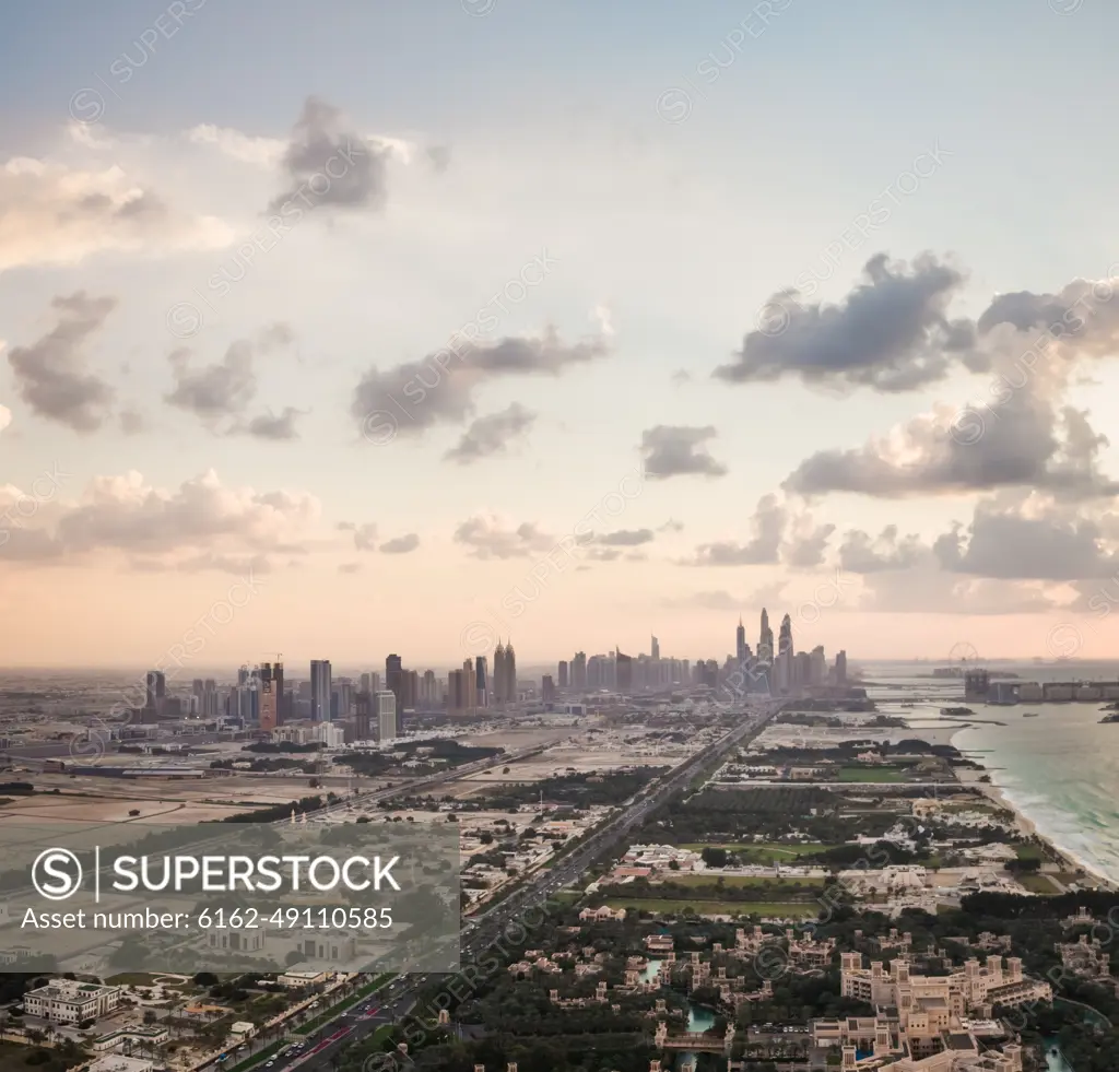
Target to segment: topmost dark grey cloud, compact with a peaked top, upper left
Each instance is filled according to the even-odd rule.
[[[292,215],[384,208],[389,156],[387,145],[348,132],[332,104],[308,97],[283,156],[286,186],[269,210]]]

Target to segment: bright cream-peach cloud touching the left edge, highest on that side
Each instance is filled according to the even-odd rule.
[[[173,211],[117,167],[83,171],[27,158],[0,166],[0,272],[107,251],[216,250],[234,238],[214,217]]]

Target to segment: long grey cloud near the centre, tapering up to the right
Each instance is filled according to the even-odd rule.
[[[549,328],[542,338],[504,338],[429,354],[387,369],[370,368],[354,388],[350,413],[358,427],[391,423],[402,436],[436,424],[461,424],[474,412],[473,392],[506,376],[558,376],[609,352],[604,339],[565,345]]]

